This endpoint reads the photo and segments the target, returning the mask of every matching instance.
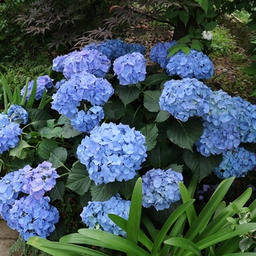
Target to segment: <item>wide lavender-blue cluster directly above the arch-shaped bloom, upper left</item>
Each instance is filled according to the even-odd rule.
[[[53,60],[53,69],[61,70],[65,78],[80,72],[92,73],[97,78],[103,78],[111,67],[111,61],[98,50],[75,50],[64,57]]]

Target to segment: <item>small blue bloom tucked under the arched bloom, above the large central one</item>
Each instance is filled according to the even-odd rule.
[[[78,111],[70,120],[74,129],[90,132],[95,126],[99,126],[100,121],[104,118],[104,111],[100,106],[92,106],[88,111]]]

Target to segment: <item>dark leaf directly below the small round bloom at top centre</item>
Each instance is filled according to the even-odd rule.
[[[118,97],[120,97],[121,102],[124,103],[125,107],[130,102],[135,101],[140,95],[140,86],[130,85],[130,86],[115,86],[115,92]]]

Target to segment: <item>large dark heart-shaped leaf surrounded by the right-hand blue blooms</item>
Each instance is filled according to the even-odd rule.
[[[197,118],[190,118],[186,122],[174,121],[167,128],[168,139],[182,149],[192,150],[193,145],[203,132],[201,121]]]

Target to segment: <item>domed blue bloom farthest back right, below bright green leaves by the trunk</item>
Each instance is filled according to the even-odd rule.
[[[189,55],[178,51],[168,58],[165,67],[169,75],[179,75],[181,78],[211,78],[214,70],[211,59],[199,50],[190,50]]]

